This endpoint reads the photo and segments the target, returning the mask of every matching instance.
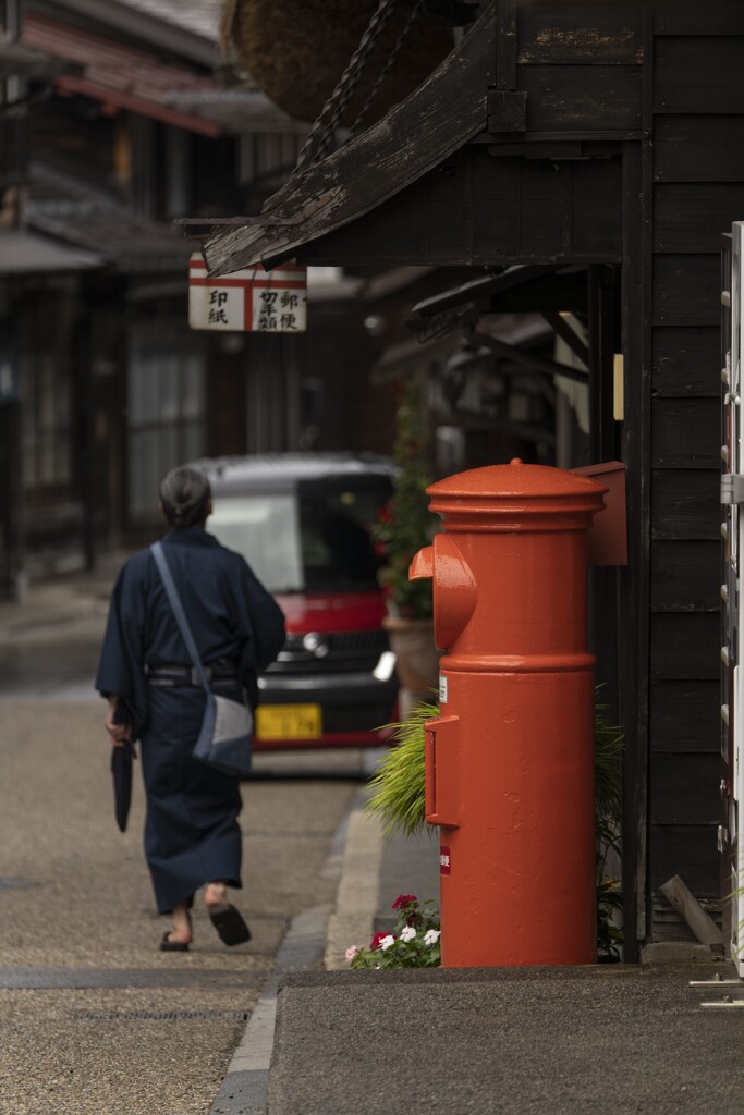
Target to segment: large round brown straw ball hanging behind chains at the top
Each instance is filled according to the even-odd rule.
[[[367,29],[378,0],[226,0],[226,38],[260,89],[298,120],[320,114]],[[375,43],[341,120],[350,126],[390,56],[415,0],[399,0]],[[418,12],[404,46],[365,115],[384,116],[452,50],[452,28]]]

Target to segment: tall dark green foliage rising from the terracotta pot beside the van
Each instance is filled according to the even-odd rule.
[[[431,619],[434,612],[432,582],[409,581],[408,566],[434,533],[435,518],[428,510],[426,488],[431,484],[426,416],[422,417],[421,391],[413,379],[406,384],[396,415],[393,449],[400,472],[394,481],[389,508],[373,529],[383,550],[379,583],[393,610],[406,619]]]

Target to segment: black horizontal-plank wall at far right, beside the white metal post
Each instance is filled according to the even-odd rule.
[[[744,6],[654,7],[650,886],[719,896],[719,243],[744,217]]]

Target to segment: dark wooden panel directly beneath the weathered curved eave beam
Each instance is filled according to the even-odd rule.
[[[563,127],[558,117],[555,127]],[[476,144],[299,258],[347,265],[619,261],[620,207],[619,158],[499,157]]]

